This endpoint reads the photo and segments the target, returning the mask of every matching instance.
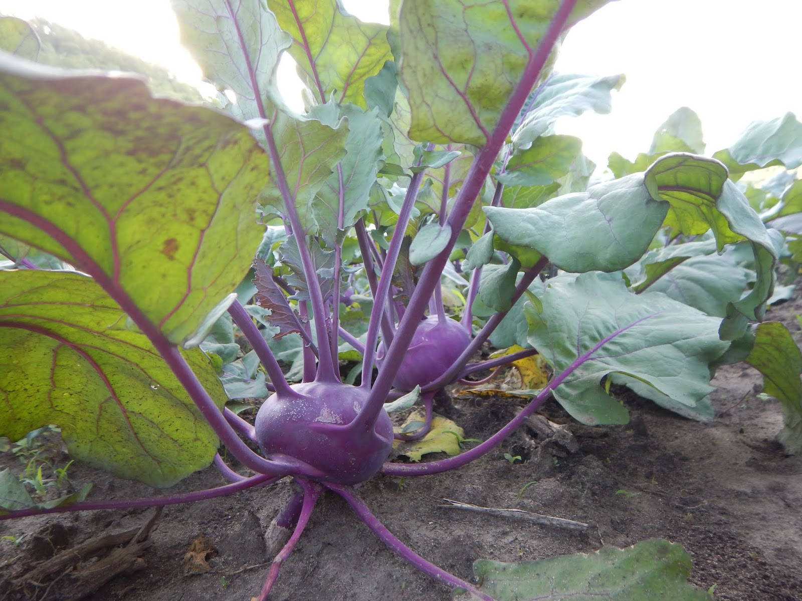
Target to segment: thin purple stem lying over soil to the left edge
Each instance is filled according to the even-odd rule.
[[[179,503],[190,503],[195,501],[205,501],[209,498],[224,497],[226,494],[236,493],[253,486],[265,486],[280,480],[282,476],[270,476],[268,474],[257,474],[250,478],[245,478],[240,482],[233,482],[217,488],[205,490],[193,490],[191,493],[168,494],[163,497],[144,497],[144,498],[115,498],[110,501],[84,501],[72,503],[62,507],[52,509],[21,509],[9,511],[7,514],[0,514],[0,522],[10,518],[24,518],[28,515],[41,514],[61,514],[68,511],[91,511],[99,509],[130,509],[131,507],[155,507],[162,505],[178,505]]]

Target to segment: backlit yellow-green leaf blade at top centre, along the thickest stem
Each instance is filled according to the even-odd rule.
[[[577,2],[570,22],[604,4]],[[412,109],[410,137],[482,146],[558,6],[549,0],[403,2],[391,23]]]

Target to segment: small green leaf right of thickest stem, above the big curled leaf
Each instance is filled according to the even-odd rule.
[[[506,186],[545,186],[566,175],[582,150],[572,135],[548,135],[509,159],[496,179]]]

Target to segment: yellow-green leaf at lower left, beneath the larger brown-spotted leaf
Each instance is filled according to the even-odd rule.
[[[222,408],[200,349],[184,359]],[[217,436],[148,338],[94,280],[75,272],[0,272],[0,435],[61,427],[76,460],[152,486],[209,465]]]

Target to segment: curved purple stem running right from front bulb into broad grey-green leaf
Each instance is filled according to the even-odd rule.
[[[384,467],[382,468],[382,474],[388,474],[391,476],[423,476],[425,474],[439,474],[440,472],[453,470],[456,467],[464,466],[472,462],[474,459],[480,458],[489,450],[492,450],[499,445],[504,438],[507,438],[510,434],[512,434],[512,432],[514,432],[527,417],[532,415],[532,413],[534,413],[545,402],[552,390],[561,385],[565,379],[569,377],[578,367],[585,363],[585,361],[589,361],[593,353],[595,353],[598,349],[601,349],[602,346],[606,345],[609,341],[613,340],[614,337],[619,336],[621,333],[626,332],[626,330],[633,328],[635,325],[638,325],[642,321],[646,321],[655,315],[657,315],[657,313],[652,313],[650,315],[646,315],[645,317],[641,317],[637,321],[632,322],[630,325],[626,325],[623,328],[617,329],[614,333],[602,338],[602,341],[597,342],[596,345],[593,345],[592,349],[574,359],[571,365],[565,368],[560,375],[554,377],[552,381],[550,381],[549,384],[547,384],[545,388],[541,390],[537,397],[533,398],[529,405],[526,405],[525,408],[522,409],[521,412],[516,415],[516,417],[513,417],[506,426],[496,432],[496,434],[493,434],[486,441],[482,442],[480,445],[477,445],[471,450],[467,450],[463,454],[457,455],[456,457],[441,459],[439,461],[430,463],[419,463],[416,465],[385,463]]]

